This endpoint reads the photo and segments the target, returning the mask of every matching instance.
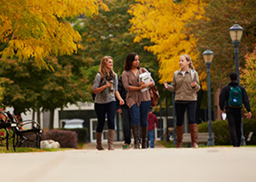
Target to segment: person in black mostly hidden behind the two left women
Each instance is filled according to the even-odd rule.
[[[124,132],[124,145],[123,149],[131,148],[131,115],[129,113],[129,107],[127,106],[126,98],[127,98],[127,90],[124,89],[123,82],[121,81],[121,77],[118,79],[118,92],[121,95],[121,98],[124,100],[124,105],[120,106],[118,104],[118,100],[116,102],[116,111],[121,114],[122,124],[123,124],[123,132]]]

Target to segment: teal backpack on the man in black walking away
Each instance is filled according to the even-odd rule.
[[[230,87],[230,95],[227,100],[228,106],[231,108],[242,107],[242,91],[240,87]]]

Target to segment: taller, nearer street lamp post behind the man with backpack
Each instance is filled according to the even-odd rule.
[[[238,84],[240,83],[239,78],[239,58],[238,58],[238,46],[240,44],[241,38],[243,36],[244,28],[241,28],[240,25],[235,23],[230,29],[230,38],[232,40],[232,43],[235,47],[235,63],[236,63],[236,74],[238,76]],[[245,146],[245,138],[244,138],[244,131],[243,131],[243,122],[241,122],[241,146]]]

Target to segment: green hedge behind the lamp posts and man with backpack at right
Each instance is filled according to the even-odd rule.
[[[215,145],[231,145],[230,132],[228,130],[228,122],[226,121],[214,121],[211,122],[212,132],[215,136]],[[244,138],[248,138],[249,132],[253,132],[251,141],[247,142],[247,145],[256,145],[256,120],[255,119],[243,119]],[[198,124],[198,132],[208,132],[208,122]]]

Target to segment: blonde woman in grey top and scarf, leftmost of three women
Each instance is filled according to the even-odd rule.
[[[95,94],[94,109],[97,114],[96,139],[98,150],[104,150],[102,147],[102,131],[105,124],[105,116],[108,117],[108,150],[113,150],[113,141],[115,137],[115,116],[116,116],[116,98],[120,105],[124,104],[118,92],[118,77],[113,71],[113,58],[105,56],[102,58],[99,73],[94,79],[92,90]],[[115,97],[116,95],[116,97]]]

